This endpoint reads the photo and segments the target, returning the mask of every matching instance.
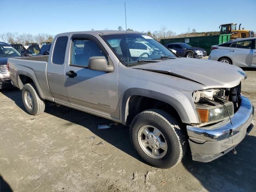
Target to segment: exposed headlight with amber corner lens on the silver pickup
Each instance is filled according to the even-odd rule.
[[[214,96],[215,97],[215,96]],[[203,101],[196,102],[196,110],[201,123],[214,123],[234,116],[234,104],[224,99],[219,102],[202,98]]]

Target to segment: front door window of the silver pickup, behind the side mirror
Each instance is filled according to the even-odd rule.
[[[95,42],[85,38],[72,40],[70,65],[87,67],[90,57],[104,56]]]

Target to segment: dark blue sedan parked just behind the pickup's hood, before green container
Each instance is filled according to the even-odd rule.
[[[170,43],[167,44],[166,47],[176,50],[176,54],[180,57],[202,58],[207,55],[203,48],[192,47],[186,43]]]

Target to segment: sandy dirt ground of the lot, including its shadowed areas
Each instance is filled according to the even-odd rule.
[[[256,71],[246,73],[243,94],[256,106]],[[0,91],[0,122],[0,192],[256,191],[256,128],[236,155],[200,163],[187,154],[162,170],[134,152],[129,128],[98,130],[108,120],[49,104],[31,116],[19,90]]]

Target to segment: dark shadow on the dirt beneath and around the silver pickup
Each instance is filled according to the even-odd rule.
[[[4,90],[1,92],[14,100],[17,106],[24,110],[19,90]],[[108,142],[143,162],[132,148],[128,127],[118,125],[114,128],[98,130],[98,124],[107,124],[111,121],[65,106],[58,107],[56,104],[47,104],[45,112],[88,128],[93,134],[100,137],[103,142]],[[210,192],[256,191],[256,137],[246,136],[236,147],[236,150],[238,152],[236,155],[229,152],[209,163],[192,161],[188,151],[182,160],[182,164]],[[172,171],[172,169],[168,171]]]

